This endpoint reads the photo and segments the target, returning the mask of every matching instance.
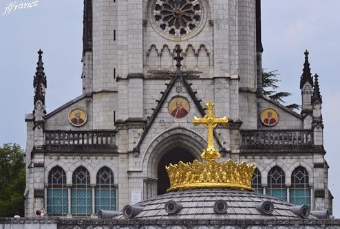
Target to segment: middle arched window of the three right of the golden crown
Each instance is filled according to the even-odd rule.
[[[270,169],[268,173],[268,188],[266,194],[287,201],[285,178],[284,171],[279,166]]]

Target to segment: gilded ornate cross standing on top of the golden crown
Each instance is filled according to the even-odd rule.
[[[228,119],[224,116],[222,118],[217,118],[213,113],[213,107],[215,104],[213,102],[208,102],[205,104],[206,107],[206,115],[203,118],[193,117],[193,124],[198,126],[199,124],[204,124],[204,127],[208,130],[208,139],[206,150],[203,151],[201,157],[207,161],[215,160],[221,157],[220,152],[215,149],[213,143],[213,129],[217,126],[217,124],[226,125],[228,123]]]

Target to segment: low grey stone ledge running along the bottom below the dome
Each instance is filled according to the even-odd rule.
[[[131,226],[133,224],[134,226]],[[340,228],[340,219],[59,219],[59,218],[21,218],[21,219],[0,219],[0,228],[3,229],[67,229],[67,228],[258,228],[258,229],[279,229],[279,228],[306,228],[306,229],[323,229],[323,228]]]

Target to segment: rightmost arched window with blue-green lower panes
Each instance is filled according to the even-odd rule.
[[[290,203],[295,205],[306,204],[310,206],[310,187],[306,168],[299,166],[292,173],[292,186],[290,187]]]

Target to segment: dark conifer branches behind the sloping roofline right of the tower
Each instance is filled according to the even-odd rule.
[[[279,88],[279,86],[277,86],[277,83],[281,81],[278,79],[277,76],[279,76],[279,74],[277,73],[277,70],[270,71],[270,72],[264,72],[264,70],[262,70],[263,94],[277,102],[286,103],[284,98],[287,98],[288,96],[291,96],[292,94],[290,92],[281,92],[281,91],[277,92],[276,91]],[[297,105],[296,103],[293,103],[291,105],[286,105],[286,107],[291,110],[300,109],[300,106]]]

